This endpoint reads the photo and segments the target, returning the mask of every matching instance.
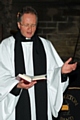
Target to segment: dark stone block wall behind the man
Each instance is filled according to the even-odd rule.
[[[19,0],[3,0],[0,3],[0,24],[3,26],[3,38],[10,36],[11,30],[17,30],[16,14],[19,9],[25,5],[32,6],[37,10],[39,16],[37,33],[53,43],[64,61],[73,57],[76,42],[79,39],[80,4],[51,1],[19,2]],[[79,62],[80,40],[75,57],[75,60]]]

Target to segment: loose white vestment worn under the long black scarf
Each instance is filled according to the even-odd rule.
[[[46,58],[47,58],[47,92],[48,92],[48,120],[58,116],[58,112],[63,102],[63,92],[68,86],[66,82],[61,82],[62,60],[57,54],[50,41],[41,38]],[[14,43],[11,36],[0,44],[0,120],[15,120],[15,106],[19,96],[14,96],[10,91],[19,82],[15,77],[14,68]],[[25,68],[27,75],[34,75],[33,71],[33,42],[23,42]],[[27,53],[27,54],[26,54]],[[43,66],[44,67],[44,66]],[[34,86],[28,89],[31,104],[31,120],[36,120]]]

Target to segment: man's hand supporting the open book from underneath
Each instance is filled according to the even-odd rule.
[[[22,89],[29,89],[30,87],[32,87],[34,84],[36,84],[37,82],[36,81],[32,81],[28,84],[25,84],[24,83],[24,80],[21,80],[18,85],[17,85],[17,88],[22,88]]]

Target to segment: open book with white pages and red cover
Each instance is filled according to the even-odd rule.
[[[43,75],[37,75],[37,76],[29,76],[26,74],[18,74],[17,80],[24,80],[24,83],[29,83],[33,80],[45,80],[46,79],[46,74]]]

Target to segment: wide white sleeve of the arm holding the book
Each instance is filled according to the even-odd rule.
[[[14,96],[10,91],[18,83],[14,76],[12,64],[12,46],[8,48],[8,41],[0,44],[0,120],[7,120],[13,113],[18,96]]]

